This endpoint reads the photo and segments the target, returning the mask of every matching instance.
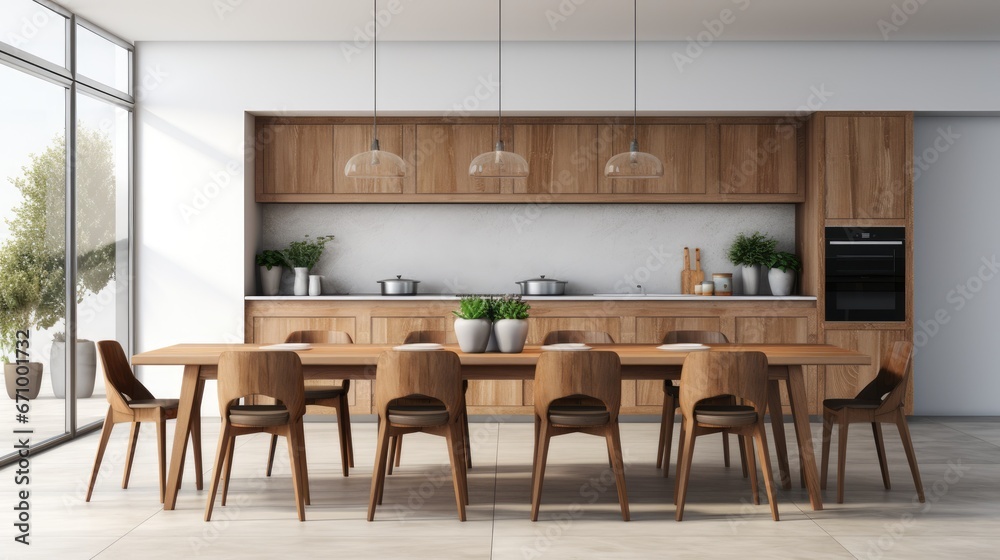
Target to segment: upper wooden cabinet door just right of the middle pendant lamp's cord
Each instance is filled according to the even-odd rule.
[[[514,182],[515,193],[596,193],[597,125],[514,125],[508,149],[528,160],[526,179]],[[558,200],[558,199],[554,199]]]

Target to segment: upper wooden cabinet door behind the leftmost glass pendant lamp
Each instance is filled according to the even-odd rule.
[[[398,179],[355,179],[344,174],[347,161],[371,148],[371,125],[345,124],[333,129],[333,192],[337,194],[402,194],[414,192],[413,125],[379,125],[379,149],[406,162],[406,175]]]

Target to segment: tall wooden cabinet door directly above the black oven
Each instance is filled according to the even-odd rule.
[[[905,116],[828,116],[826,217],[903,219],[909,190]]]

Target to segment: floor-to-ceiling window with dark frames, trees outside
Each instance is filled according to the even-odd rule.
[[[94,341],[130,349],[132,47],[47,1],[0,22],[0,437],[37,450],[103,418]]]

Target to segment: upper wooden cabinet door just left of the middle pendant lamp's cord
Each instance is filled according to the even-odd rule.
[[[417,192],[427,194],[500,193],[500,179],[469,176],[469,164],[493,150],[496,127],[482,124],[418,124]],[[507,149],[513,149],[507,145]]]

